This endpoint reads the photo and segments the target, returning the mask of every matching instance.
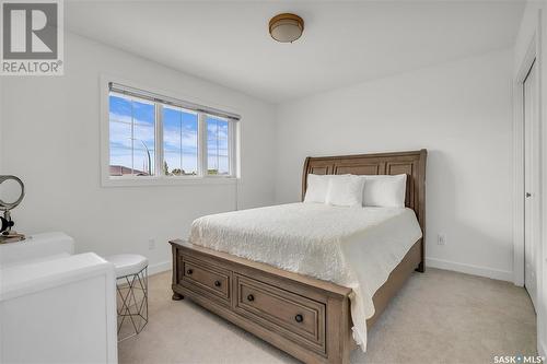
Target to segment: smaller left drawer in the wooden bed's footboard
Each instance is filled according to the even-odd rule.
[[[182,256],[181,260],[179,280],[183,285],[230,304],[231,271],[187,256]]]

